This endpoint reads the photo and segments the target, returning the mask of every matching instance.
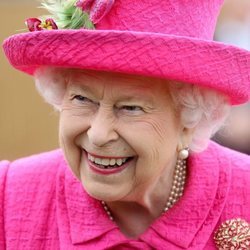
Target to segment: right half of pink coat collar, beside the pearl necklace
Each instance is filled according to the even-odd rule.
[[[190,157],[183,197],[151,225],[155,237],[148,231],[145,240],[152,244],[161,238],[184,249],[193,244],[203,249],[222,213],[231,181],[230,162],[220,151],[220,146],[210,143],[206,151]]]

